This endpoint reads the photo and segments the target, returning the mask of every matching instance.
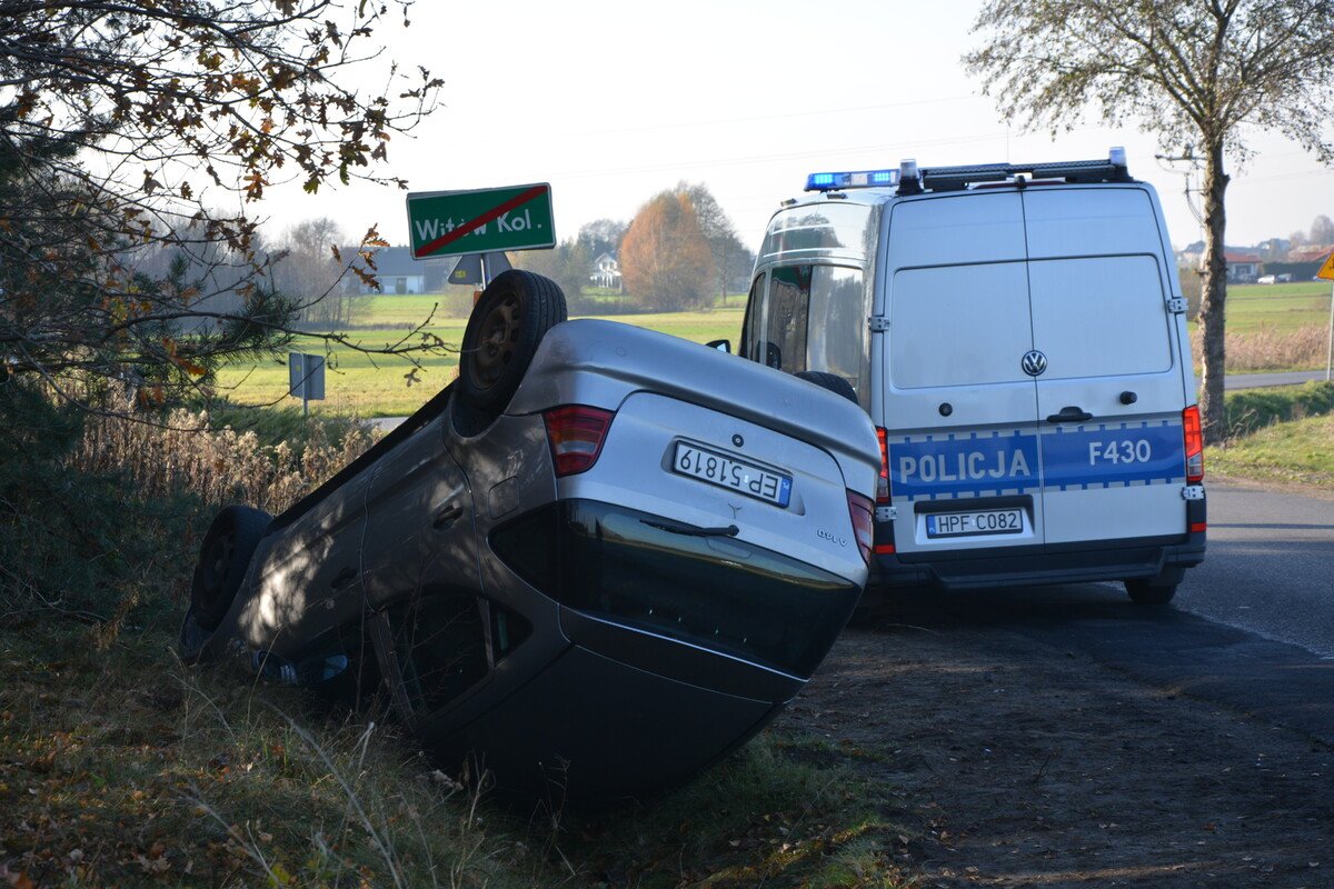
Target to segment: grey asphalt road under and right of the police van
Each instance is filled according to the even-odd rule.
[[[1030,638],[1042,669],[1078,650],[1334,745],[1334,500],[1214,484],[1209,518],[1209,554],[1171,606],[1082,584],[915,594],[891,620],[998,626]]]

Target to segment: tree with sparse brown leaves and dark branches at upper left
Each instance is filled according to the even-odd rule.
[[[67,400],[128,379],[165,401],[281,347],[300,304],[273,287],[248,207],[280,181],[403,184],[376,165],[439,87],[378,59],[408,7],[0,0],[5,379]],[[336,259],[367,275],[380,243]]]

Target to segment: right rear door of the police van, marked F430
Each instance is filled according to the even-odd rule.
[[[1023,193],[1047,544],[1186,530],[1173,269],[1139,188]]]

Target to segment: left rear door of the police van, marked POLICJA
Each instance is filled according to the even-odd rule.
[[[899,201],[886,243],[883,417],[900,554],[1043,541],[1018,192]]]

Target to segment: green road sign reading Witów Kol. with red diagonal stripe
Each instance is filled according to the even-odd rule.
[[[419,260],[555,247],[551,185],[408,195],[408,237]]]

